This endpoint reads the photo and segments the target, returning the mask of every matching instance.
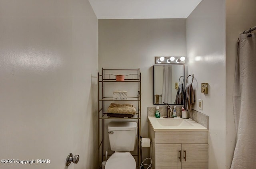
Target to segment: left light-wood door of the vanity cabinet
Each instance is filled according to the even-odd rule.
[[[181,169],[181,144],[156,144],[155,169]]]

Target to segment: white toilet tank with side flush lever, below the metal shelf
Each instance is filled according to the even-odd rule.
[[[133,151],[137,140],[136,122],[110,122],[108,137],[112,151]]]

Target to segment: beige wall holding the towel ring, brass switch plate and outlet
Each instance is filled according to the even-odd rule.
[[[209,116],[209,169],[225,168],[226,77],[225,0],[202,0],[187,18],[188,74],[194,73],[196,104],[193,109]],[[201,93],[208,83],[208,94]],[[198,108],[203,100],[203,110]]]

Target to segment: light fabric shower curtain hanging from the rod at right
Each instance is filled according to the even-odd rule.
[[[239,36],[233,108],[236,147],[231,169],[256,169],[256,33]]]

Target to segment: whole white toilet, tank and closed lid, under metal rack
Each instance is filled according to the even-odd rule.
[[[136,169],[136,162],[130,151],[135,149],[137,130],[136,122],[108,124],[110,148],[115,152],[107,160],[105,169]]]

